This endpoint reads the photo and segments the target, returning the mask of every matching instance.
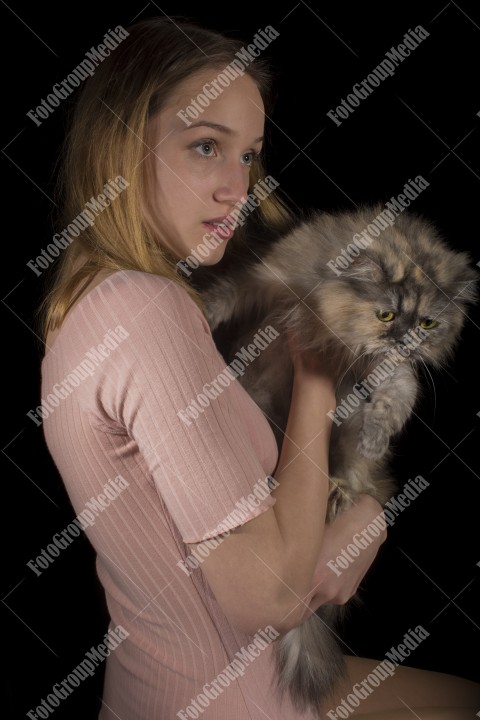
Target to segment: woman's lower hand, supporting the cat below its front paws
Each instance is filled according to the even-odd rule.
[[[315,568],[309,607],[316,610],[321,605],[343,605],[353,595],[374,561],[380,545],[386,540],[387,531],[380,530],[378,537],[370,531],[361,535],[368,525],[382,513],[382,506],[371,495],[360,495],[355,505],[339,515],[330,525],[325,525],[323,542]],[[383,515],[382,515],[383,517]],[[379,524],[379,523],[378,523]],[[385,524],[385,523],[383,523]],[[375,530],[375,532],[377,532]],[[336,563],[336,558],[354,536],[360,535],[358,556],[352,558],[348,567]],[[365,548],[363,546],[365,545]],[[345,562],[343,563],[345,564]]]

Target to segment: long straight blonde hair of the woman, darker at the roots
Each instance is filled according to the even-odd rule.
[[[182,32],[183,30],[183,32]],[[128,36],[84,84],[69,121],[60,156],[57,200],[65,228],[108,181],[125,178],[128,188],[60,254],[39,308],[41,335],[59,327],[99,270],[139,270],[181,285],[201,307],[198,292],[178,273],[176,259],[155,241],[142,211],[143,160],[148,123],[183,80],[207,67],[226,66],[243,43],[183,18],[153,17],[128,28]],[[271,111],[271,76],[263,60],[245,72]],[[250,186],[263,176],[252,168]],[[288,220],[286,204],[269,195],[258,208],[270,226]],[[241,241],[248,228],[238,228]],[[238,242],[237,240],[237,242]],[[79,266],[80,258],[87,261]]]

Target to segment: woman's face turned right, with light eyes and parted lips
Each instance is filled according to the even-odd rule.
[[[180,259],[214,235],[208,244],[216,247],[201,260],[205,265],[222,258],[233,235],[221,223],[246,200],[265,120],[262,98],[248,75],[232,80],[196,119],[185,114],[220,71],[209,68],[179,85],[150,124],[146,160],[146,215],[159,242]]]

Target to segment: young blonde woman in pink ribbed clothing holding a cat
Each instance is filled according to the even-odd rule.
[[[46,441],[75,511],[92,498],[103,508],[86,529],[117,638],[100,718],[311,718],[275,692],[274,641],[355,593],[385,534],[339,577],[326,563],[381,507],[364,496],[325,526],[328,358],[289,339],[278,456],[179,265],[202,246],[214,266],[242,239],[232,219],[264,177],[271,78],[259,59],[232,65],[242,43],[181,19],[127,32],[72,117],[59,231],[78,236],[43,305],[42,397],[55,399]],[[275,193],[255,213],[278,227],[288,216]],[[325,712],[335,717],[376,664],[349,658]],[[466,718],[478,690],[399,668],[354,712]]]

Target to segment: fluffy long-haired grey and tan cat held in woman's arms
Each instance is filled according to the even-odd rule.
[[[394,218],[380,205],[365,206],[314,213],[262,260],[214,278],[202,297],[212,331],[227,327],[235,337],[227,362],[259,328],[280,332],[238,378],[279,445],[293,372],[284,331],[294,331],[304,349],[326,350],[342,370],[331,416],[328,519],[361,493],[385,504],[395,490],[390,442],[411,416],[418,370],[440,368],[452,356],[476,299],[468,255],[409,211]],[[323,606],[277,643],[279,689],[301,711],[318,711],[344,671],[333,632],[341,612]]]

